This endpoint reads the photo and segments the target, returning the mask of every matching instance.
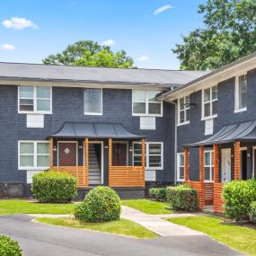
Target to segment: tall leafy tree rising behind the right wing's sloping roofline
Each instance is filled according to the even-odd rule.
[[[199,13],[204,28],[191,31],[172,49],[181,69],[216,69],[256,50],[255,0],[208,0]]]

